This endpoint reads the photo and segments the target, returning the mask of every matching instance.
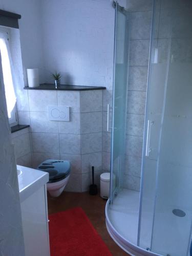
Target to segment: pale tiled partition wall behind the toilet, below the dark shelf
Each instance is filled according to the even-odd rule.
[[[21,124],[31,126],[33,167],[49,158],[69,160],[71,176],[66,190],[80,192],[89,189],[93,165],[99,185],[102,170],[102,90],[27,92],[29,112],[18,113],[23,121]],[[49,121],[48,105],[54,104],[70,106],[70,122]]]

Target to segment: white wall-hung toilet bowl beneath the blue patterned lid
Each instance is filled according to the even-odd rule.
[[[65,188],[65,186],[68,183],[70,175],[68,175],[68,177],[66,177],[63,180],[54,182],[54,183],[47,183],[47,190],[49,191],[49,194],[52,197],[58,197],[60,196],[60,194],[62,193],[63,189]]]

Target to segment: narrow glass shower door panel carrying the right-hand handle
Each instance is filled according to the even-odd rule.
[[[160,10],[153,7],[153,22],[148,70],[147,101],[142,154],[141,192],[139,209],[138,245],[151,250],[154,205],[156,195],[157,160],[160,143],[161,118],[165,94],[165,62],[158,61],[158,30]]]

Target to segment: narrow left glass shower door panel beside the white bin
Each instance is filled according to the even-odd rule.
[[[121,187],[124,168],[128,72],[127,12],[116,2],[110,198]]]

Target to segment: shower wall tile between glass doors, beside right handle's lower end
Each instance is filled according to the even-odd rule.
[[[142,157],[143,137],[126,135],[126,155]]]

